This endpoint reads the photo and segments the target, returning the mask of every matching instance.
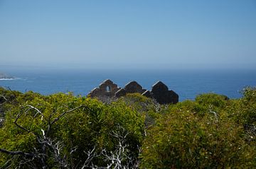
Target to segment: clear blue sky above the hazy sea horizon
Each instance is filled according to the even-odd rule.
[[[255,0],[0,0],[0,66],[255,65]]]

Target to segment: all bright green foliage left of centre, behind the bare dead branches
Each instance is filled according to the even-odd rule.
[[[40,151],[37,137],[43,137],[42,130],[47,132],[48,122],[53,122],[63,112],[75,109],[56,121],[50,129],[50,133],[47,134],[53,141],[59,141],[62,144],[61,153],[66,156],[71,165],[74,165],[70,166],[71,168],[75,168],[75,164],[82,165],[87,158],[85,152],[94,147],[97,148],[97,153],[100,153],[103,148],[113,151],[118,140],[110,133],[117,132],[120,127],[128,133],[126,144],[129,145],[129,151],[133,153],[133,156],[138,156],[137,146],[140,146],[142,141],[144,119],[142,115],[124,103],[105,105],[95,99],[77,98],[72,94],[65,95],[63,93],[45,97],[26,93],[23,98],[29,99],[25,99],[18,106],[14,106],[9,112],[6,112],[4,127],[0,129],[1,148],[24,152],[34,152],[33,148],[36,148]],[[76,109],[80,105],[83,106]],[[40,110],[42,115],[31,106]],[[17,124],[30,132],[26,132],[14,124],[17,115],[20,115]],[[70,154],[71,151],[74,152]],[[47,165],[52,168],[55,166],[53,152],[50,149],[47,152],[49,157]],[[11,156],[3,155],[0,163],[4,163],[9,158]],[[20,158],[17,158],[16,162],[18,163],[19,160]],[[100,158],[95,158],[93,163],[106,165],[105,161]],[[79,168],[79,165],[77,167]]]

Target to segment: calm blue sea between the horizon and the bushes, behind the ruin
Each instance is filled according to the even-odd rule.
[[[107,78],[120,87],[129,81],[137,81],[149,90],[156,81],[162,81],[178,93],[180,101],[193,100],[201,93],[240,98],[242,88],[256,86],[256,71],[13,71],[11,75],[16,78],[0,80],[0,86],[43,95],[68,91],[87,95]]]

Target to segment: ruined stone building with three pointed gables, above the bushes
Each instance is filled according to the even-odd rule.
[[[178,103],[178,94],[174,91],[169,91],[169,88],[161,81],[156,82],[152,86],[151,91],[147,91],[136,81],[131,81],[127,83],[124,88],[119,88],[117,84],[107,79],[103,81],[98,88],[94,88],[88,96],[106,100],[106,98],[120,98],[127,93],[140,93],[147,98],[153,98],[159,104]]]

